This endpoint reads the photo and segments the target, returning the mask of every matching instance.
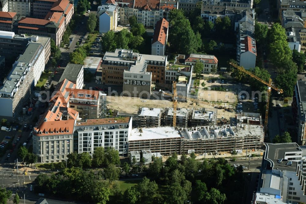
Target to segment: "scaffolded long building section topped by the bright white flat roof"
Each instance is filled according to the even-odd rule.
[[[150,149],[162,155],[181,153],[181,134],[174,127],[132,129],[129,135],[129,151]]]

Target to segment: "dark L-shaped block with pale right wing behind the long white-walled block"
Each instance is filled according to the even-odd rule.
[[[7,59],[16,59],[23,54],[29,43],[43,45],[45,64],[50,58],[50,38],[42,36],[15,35],[14,32],[0,31],[0,55]]]

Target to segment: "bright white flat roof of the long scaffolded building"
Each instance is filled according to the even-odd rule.
[[[180,131],[173,127],[134,128],[129,136],[129,141],[181,137]]]

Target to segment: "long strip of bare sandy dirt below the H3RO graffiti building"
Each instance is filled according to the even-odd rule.
[[[138,109],[142,107],[148,108],[168,108],[172,107],[172,101],[170,100],[151,100],[151,99],[140,99],[134,97],[124,96],[107,96],[107,108],[119,110],[120,113],[137,114]],[[228,107],[230,104],[218,103],[218,106]],[[213,108],[213,106],[206,104],[194,104],[194,108]],[[192,108],[190,103],[178,102],[177,108]],[[234,116],[234,112],[225,111],[224,109],[218,109],[217,118],[229,119]]]

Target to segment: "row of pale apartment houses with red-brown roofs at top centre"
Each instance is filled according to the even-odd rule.
[[[170,0],[149,0],[149,1],[118,1],[120,7],[120,24],[129,23],[129,17],[137,17],[137,23],[142,23],[145,27],[153,28],[157,21],[165,18],[169,21],[169,12],[178,9],[178,1]]]

